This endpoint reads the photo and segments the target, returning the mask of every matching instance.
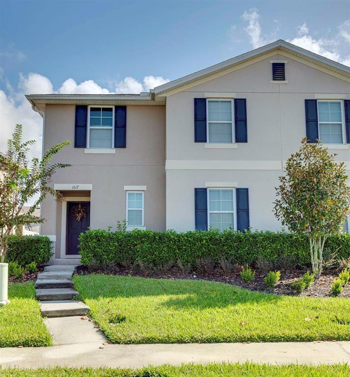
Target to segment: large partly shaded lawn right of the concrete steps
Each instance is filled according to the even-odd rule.
[[[350,340],[350,300],[345,298],[98,274],[75,276],[74,283],[113,343]]]

